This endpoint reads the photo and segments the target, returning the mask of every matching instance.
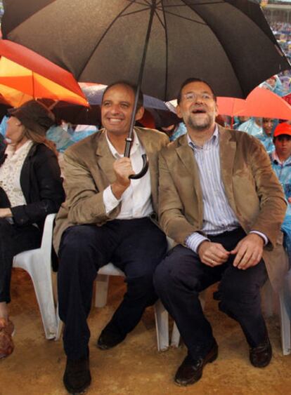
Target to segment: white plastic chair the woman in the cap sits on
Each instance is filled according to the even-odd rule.
[[[46,216],[41,247],[15,255],[13,267],[24,269],[32,279],[34,291],[41,313],[46,339],[56,337],[56,308],[53,302],[53,283],[51,279],[51,245],[53,238],[53,220],[56,214]]]

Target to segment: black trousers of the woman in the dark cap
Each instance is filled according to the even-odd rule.
[[[41,232],[34,225],[19,227],[0,218],[0,302],[11,302],[13,256],[41,245]]]

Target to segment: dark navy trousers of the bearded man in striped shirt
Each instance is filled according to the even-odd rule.
[[[226,250],[232,250],[244,236],[243,229],[236,229],[210,238]],[[198,296],[216,281],[220,281],[219,308],[240,323],[250,346],[255,347],[266,338],[259,293],[267,279],[264,261],[241,270],[233,267],[233,260],[232,256],[223,265],[209,267],[192,250],[178,245],[169,251],[155,272],[157,295],[176,321],[188,353],[194,359],[204,357],[214,341]]]

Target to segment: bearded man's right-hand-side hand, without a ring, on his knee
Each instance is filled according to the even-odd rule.
[[[233,266],[245,270],[257,265],[263,255],[263,249],[264,239],[255,233],[248,234],[231,251],[231,254],[236,255]]]

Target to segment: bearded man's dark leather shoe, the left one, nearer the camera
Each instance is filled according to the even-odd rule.
[[[176,372],[174,382],[178,385],[190,385],[198,382],[202,377],[202,371],[204,366],[207,363],[211,363],[216,360],[218,356],[218,346],[214,340],[212,348],[206,354],[204,358],[192,359],[190,356],[186,356],[186,358],[179,366],[179,369]]]

